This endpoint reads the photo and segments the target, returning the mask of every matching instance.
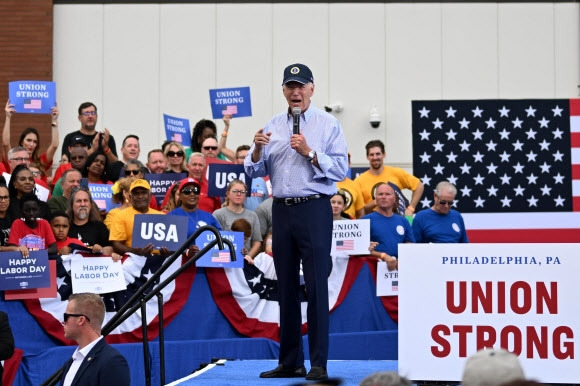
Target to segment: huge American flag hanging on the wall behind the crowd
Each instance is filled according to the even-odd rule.
[[[413,174],[457,187],[470,241],[580,242],[580,99],[413,101]]]

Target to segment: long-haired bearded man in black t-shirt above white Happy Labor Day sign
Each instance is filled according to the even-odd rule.
[[[99,209],[86,188],[72,190],[67,215],[70,222],[69,237],[79,239],[91,248],[99,245],[105,255],[113,253],[109,229],[103,224]]]

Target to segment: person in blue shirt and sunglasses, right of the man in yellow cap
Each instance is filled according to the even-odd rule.
[[[167,214],[187,217],[187,237],[194,234],[197,228],[204,225],[211,225],[218,230],[222,230],[219,222],[210,213],[198,209],[197,204],[199,203],[201,186],[195,179],[184,178],[181,180],[177,192],[180,206]],[[187,257],[192,257],[197,252],[199,252],[199,248],[192,245],[186,255]]]

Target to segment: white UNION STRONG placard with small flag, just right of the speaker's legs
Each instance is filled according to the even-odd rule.
[[[337,220],[332,224],[331,254],[368,255],[370,220]]]

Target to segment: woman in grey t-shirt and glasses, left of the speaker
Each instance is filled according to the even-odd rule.
[[[244,200],[247,192],[246,184],[240,180],[233,180],[226,190],[226,201],[223,208],[213,212],[213,216],[219,221],[223,230],[231,230],[232,223],[239,218],[246,219],[252,225],[252,237],[245,243],[244,248],[248,253],[244,256],[249,262],[260,253],[262,248],[262,235],[260,234],[260,220],[258,215],[244,208]]]

